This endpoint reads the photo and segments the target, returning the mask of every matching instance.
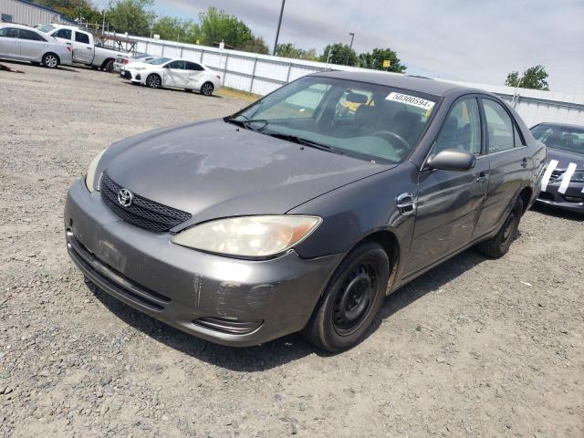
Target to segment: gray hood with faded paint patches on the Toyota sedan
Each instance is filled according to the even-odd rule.
[[[103,155],[98,172],[107,172],[133,193],[193,214],[191,223],[196,223],[284,214],[391,167],[211,120],[115,143]]]

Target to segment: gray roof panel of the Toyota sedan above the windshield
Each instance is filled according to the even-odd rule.
[[[403,75],[401,73],[389,73],[382,71],[327,71],[313,73],[310,76],[323,78],[339,78],[356,80],[359,82],[368,82],[397,89],[412,89],[422,93],[433,94],[434,96],[443,96],[453,89],[468,89],[476,92],[490,94],[483,90],[470,89],[449,82],[442,82],[432,78],[422,78],[420,76]]]

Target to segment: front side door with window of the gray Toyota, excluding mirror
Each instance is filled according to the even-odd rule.
[[[432,154],[459,149],[477,156],[464,172],[422,170],[406,276],[468,245],[485,200],[489,161],[482,156],[484,132],[476,97],[454,102],[434,142]]]

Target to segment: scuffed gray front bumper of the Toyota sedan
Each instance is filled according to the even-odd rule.
[[[303,328],[340,255],[208,255],[123,222],[83,180],[65,206],[68,253],[101,289],[199,338],[245,347]]]

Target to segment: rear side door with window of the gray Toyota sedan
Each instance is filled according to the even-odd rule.
[[[526,184],[528,167],[527,146],[510,112],[495,99],[485,96],[481,102],[491,174],[475,237],[493,231],[503,220]]]

